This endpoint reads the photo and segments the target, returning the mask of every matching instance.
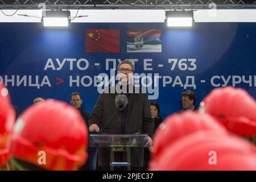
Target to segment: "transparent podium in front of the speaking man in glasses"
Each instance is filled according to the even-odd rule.
[[[127,170],[131,170],[131,148],[139,147],[144,149],[147,142],[147,134],[90,134],[90,147],[109,147],[110,148],[110,170],[114,167],[127,166]],[[116,152],[126,152],[127,161],[115,162],[114,155]]]

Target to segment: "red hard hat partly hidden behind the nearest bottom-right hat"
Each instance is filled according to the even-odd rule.
[[[177,140],[198,131],[216,131],[226,133],[225,128],[208,114],[183,112],[173,114],[158,127],[154,136],[152,159]]]

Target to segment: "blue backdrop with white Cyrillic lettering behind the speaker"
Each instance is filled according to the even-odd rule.
[[[114,28],[120,30],[120,53],[86,53],[85,30],[86,28]],[[134,29],[162,29],[161,53],[127,53],[126,31]],[[0,24],[0,76],[10,90],[11,100],[22,111],[32,104],[35,97],[55,98],[69,102],[72,92],[82,93],[82,108],[89,113],[96,104],[98,92],[93,85],[83,86],[82,76],[94,77],[100,73],[110,74],[106,70],[106,59],[138,59],[135,62],[137,73],[159,73],[159,76],[172,77],[172,82],[163,86],[163,79],[159,81],[159,96],[155,100],[159,103],[163,117],[181,109],[181,92],[190,89],[196,93],[198,107],[200,101],[216,88],[216,85],[225,85],[223,78],[230,79],[228,85],[246,89],[256,98],[256,24],[255,23],[195,23],[192,28],[170,29],[164,23],[72,23],[64,29],[44,28],[40,23],[1,23]],[[46,67],[48,59],[52,59],[55,68],[63,59],[76,59],[73,70],[66,61],[60,70]],[[86,59],[88,69],[82,71],[77,68],[76,62]],[[152,71],[144,71],[144,59],[152,59]],[[195,59],[196,69],[184,71],[177,65],[171,70],[173,63],[168,59]],[[100,65],[94,65],[100,63]],[[188,68],[191,67],[188,61]],[[81,67],[84,67],[81,62]],[[163,64],[163,67],[158,67]],[[112,64],[110,64],[112,65]],[[19,85],[18,78],[23,76],[26,83]],[[13,81],[11,79],[13,76]],[[29,86],[39,78],[40,88]],[[42,80],[47,76],[49,80]],[[69,85],[69,76],[73,79],[80,78],[80,85]],[[176,76],[179,76],[183,85],[173,85]],[[196,88],[184,88],[186,76],[195,78]],[[213,77],[219,76],[219,77]],[[245,80],[241,80],[244,76]],[[246,80],[251,80],[246,83]],[[56,77],[64,80],[56,85]],[[20,79],[19,78],[19,79]],[[0,81],[1,81],[0,79]],[[6,81],[7,79],[7,81]],[[205,80],[202,82],[201,80]],[[213,84],[211,82],[213,81]],[[179,81],[179,80],[176,80]],[[49,84],[51,83],[51,86]],[[85,84],[88,83],[84,81]],[[19,85],[19,86],[18,86]]]

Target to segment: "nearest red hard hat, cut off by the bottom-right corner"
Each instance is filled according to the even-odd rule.
[[[169,146],[150,170],[256,170],[255,146],[228,134],[195,133]]]

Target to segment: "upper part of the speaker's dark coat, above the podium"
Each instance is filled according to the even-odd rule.
[[[110,90],[110,89],[108,89]],[[146,93],[131,93],[129,95],[125,134],[135,133],[141,130],[152,138],[154,123],[150,113],[150,102]],[[117,110],[115,107],[117,93],[101,93],[93,112],[89,117],[89,126],[96,124],[102,129],[112,114]],[[134,126],[134,125],[135,126]],[[110,134],[121,134],[121,111],[118,110],[112,121],[108,123],[104,131]]]

